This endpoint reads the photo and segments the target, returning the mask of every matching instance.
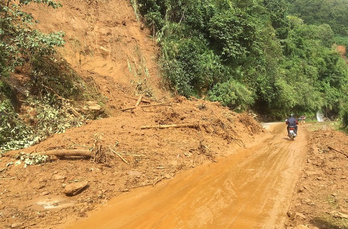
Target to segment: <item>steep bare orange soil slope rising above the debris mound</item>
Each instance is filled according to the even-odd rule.
[[[127,0],[60,0],[63,7],[42,4],[25,7],[40,23],[43,32],[64,31],[64,48],[59,51],[87,81],[94,81],[106,97],[106,110],[119,114],[133,104],[127,98],[142,94],[160,99],[158,47],[151,33],[137,21]],[[133,104],[134,105],[134,104]]]

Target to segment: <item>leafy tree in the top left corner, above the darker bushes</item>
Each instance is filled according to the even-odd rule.
[[[63,32],[43,34],[29,26],[36,23],[31,14],[21,10],[23,5],[44,3],[50,7],[62,6],[53,0],[0,0],[0,80],[16,66],[33,55],[47,56],[54,46],[63,46]]]

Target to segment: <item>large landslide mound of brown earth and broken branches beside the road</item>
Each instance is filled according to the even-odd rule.
[[[202,163],[216,163],[263,131],[249,114],[234,113],[219,103],[179,97],[162,106],[143,106],[22,150],[33,154],[98,149],[91,159],[59,157],[25,168],[23,161],[16,165],[14,159],[20,151],[6,153],[0,162],[0,227],[57,228],[67,217],[86,217],[96,204],[122,192],[156,185]],[[158,126],[170,124],[188,127]],[[157,128],[142,129],[145,125]],[[67,186],[83,183],[87,186],[77,195],[66,195]]]

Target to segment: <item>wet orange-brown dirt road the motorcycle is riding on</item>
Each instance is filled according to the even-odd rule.
[[[284,228],[306,154],[307,132],[287,139],[284,123],[247,149],[111,200],[71,229]]]

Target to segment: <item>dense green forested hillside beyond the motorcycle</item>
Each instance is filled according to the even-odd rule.
[[[347,101],[348,65],[334,45],[347,40],[347,1],[313,2],[132,1],[179,94],[275,119],[320,110],[334,119]]]

